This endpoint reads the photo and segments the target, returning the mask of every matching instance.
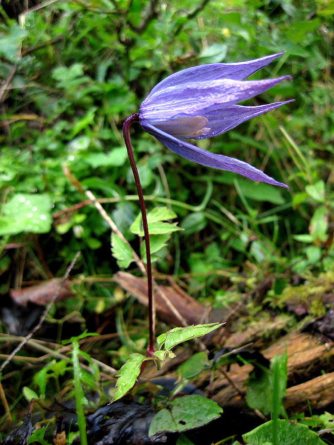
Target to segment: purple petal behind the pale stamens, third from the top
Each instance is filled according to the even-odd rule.
[[[242,122],[251,119],[252,117],[259,116],[260,114],[274,110],[281,105],[285,105],[286,103],[293,101],[294,99],[286,100],[286,102],[274,102],[266,105],[258,105],[255,107],[232,105],[231,107],[223,108],[221,110],[206,110],[203,118],[207,119],[208,122],[205,124],[205,126],[208,127],[210,131],[206,133],[202,132],[202,134],[197,136],[189,135],[187,137],[182,137],[182,139],[205,139],[207,137],[218,136],[218,134],[225,133],[228,130],[237,127],[237,125],[241,124]]]

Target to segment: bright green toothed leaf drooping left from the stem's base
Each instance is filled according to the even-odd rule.
[[[116,382],[116,392],[112,401],[116,401],[123,397],[137,381],[137,377],[141,372],[141,366],[146,358],[142,354],[130,354],[128,360],[121,369],[118,371],[116,377],[118,377]]]

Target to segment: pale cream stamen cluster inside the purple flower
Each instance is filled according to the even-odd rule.
[[[208,122],[204,116],[181,116],[172,121],[152,122],[152,125],[165,133],[183,139],[208,134],[211,130],[206,127]]]

